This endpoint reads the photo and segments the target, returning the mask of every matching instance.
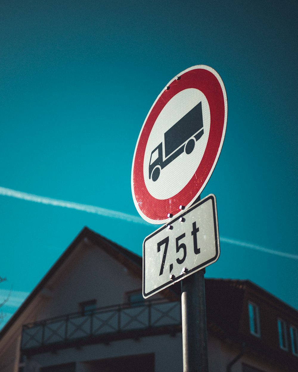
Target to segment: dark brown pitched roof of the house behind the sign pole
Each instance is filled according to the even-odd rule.
[[[25,311],[28,305],[33,301],[35,296],[45,288],[48,281],[55,275],[58,269],[63,265],[64,262],[72,255],[80,243],[83,241],[94,244],[108,253],[115,260],[123,264],[129,269],[134,275],[142,279],[142,257],[121,247],[119,244],[103,237],[100,234],[84,227],[83,230],[77,235],[75,240],[70,246],[64,251],[60,258],[54,263],[51,269],[47,272],[44,278],[38,283],[34,290],[25,299],[23,304],[10,318],[3,329],[0,331],[0,340],[9,330],[9,328],[15,323],[20,315]],[[266,297],[270,302],[276,302],[283,307],[286,307],[289,312],[297,316],[297,310],[291,308],[289,305],[283,303],[269,292],[260,288],[256,284],[250,282],[250,280],[234,280],[234,279],[210,279],[205,280],[205,293],[206,293],[206,308],[207,308],[207,323],[209,325],[216,325],[217,331],[221,328],[225,332],[233,332],[237,330],[240,325],[240,317],[242,313],[242,304],[244,301],[245,291],[249,288],[262,296]],[[162,295],[172,300],[179,300],[181,296],[180,283],[164,289]],[[234,311],[231,312],[230,309]],[[219,327],[219,328],[218,328]]]

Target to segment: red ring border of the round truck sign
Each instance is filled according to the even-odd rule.
[[[131,186],[136,208],[148,222],[164,223],[168,219],[168,213],[177,214],[180,212],[180,205],[188,207],[205,187],[221,152],[227,116],[226,93],[223,83],[221,84],[218,77],[210,71],[213,69],[208,67],[210,70],[206,70],[206,67],[186,70],[179,75],[178,80],[172,79],[167,86],[169,89],[165,89],[156,99],[140,132],[134,153]],[[177,93],[189,88],[199,89],[205,94],[209,103],[210,132],[206,150],[193,177],[180,192],[168,199],[156,199],[148,192],[143,175],[143,161],[148,138],[156,119],[169,100]]]

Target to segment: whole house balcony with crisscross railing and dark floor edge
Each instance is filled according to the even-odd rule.
[[[98,308],[23,325],[21,350],[31,355],[92,343],[181,331],[181,303],[150,301]]]

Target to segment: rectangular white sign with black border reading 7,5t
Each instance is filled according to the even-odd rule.
[[[218,257],[216,199],[210,194],[145,238],[143,297],[203,269]]]

